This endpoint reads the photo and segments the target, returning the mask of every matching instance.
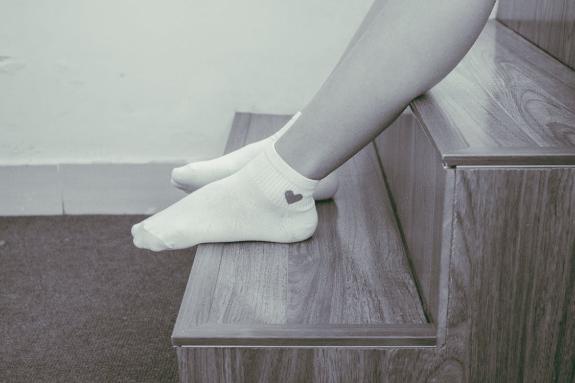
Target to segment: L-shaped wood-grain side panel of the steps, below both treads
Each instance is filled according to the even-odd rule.
[[[182,381],[573,381],[575,169],[455,172],[442,346],[182,347]]]

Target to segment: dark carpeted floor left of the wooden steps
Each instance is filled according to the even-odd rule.
[[[178,381],[195,249],[137,249],[143,218],[0,217],[0,382]]]

